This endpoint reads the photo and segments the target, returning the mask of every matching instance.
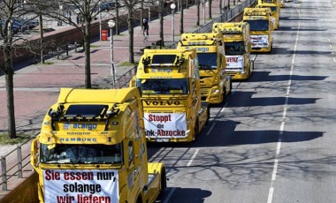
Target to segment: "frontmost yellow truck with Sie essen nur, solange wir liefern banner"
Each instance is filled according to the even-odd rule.
[[[140,98],[136,87],[61,88],[31,146],[40,202],[155,202],[164,193],[164,163],[148,162]]]

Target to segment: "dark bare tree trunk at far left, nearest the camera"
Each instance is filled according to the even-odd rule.
[[[15,139],[16,126],[15,126],[15,110],[14,110],[14,71],[12,68],[11,60],[11,47],[4,46],[4,70],[6,82],[6,96],[7,96],[7,121],[8,121],[8,134],[11,139]]]

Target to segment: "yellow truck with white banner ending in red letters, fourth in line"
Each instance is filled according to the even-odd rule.
[[[212,33],[223,34],[226,74],[232,79],[248,79],[254,69],[248,23],[214,23]]]

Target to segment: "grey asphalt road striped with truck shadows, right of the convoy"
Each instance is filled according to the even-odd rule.
[[[336,9],[286,3],[271,54],[191,144],[149,144],[165,162],[163,202],[336,202]]]

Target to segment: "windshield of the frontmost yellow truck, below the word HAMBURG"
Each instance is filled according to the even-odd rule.
[[[121,144],[117,145],[74,145],[57,144],[55,148],[48,149],[41,145],[42,163],[50,164],[111,164],[122,162]]]

